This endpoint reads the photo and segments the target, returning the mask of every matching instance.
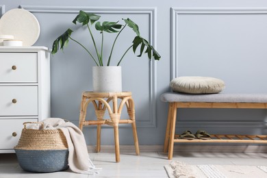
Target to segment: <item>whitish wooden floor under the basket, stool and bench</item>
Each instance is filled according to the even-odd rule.
[[[120,153],[120,163],[114,162],[114,153],[90,153],[92,162],[97,168],[103,168],[99,175],[88,176],[72,173],[70,170],[57,173],[28,173],[21,169],[16,161],[16,155],[0,154],[1,178],[80,178],[80,177],[167,177],[164,165],[166,153],[142,152]],[[236,164],[236,165],[263,165],[267,166],[267,153],[208,153],[208,152],[175,152],[173,160],[187,164]]]

